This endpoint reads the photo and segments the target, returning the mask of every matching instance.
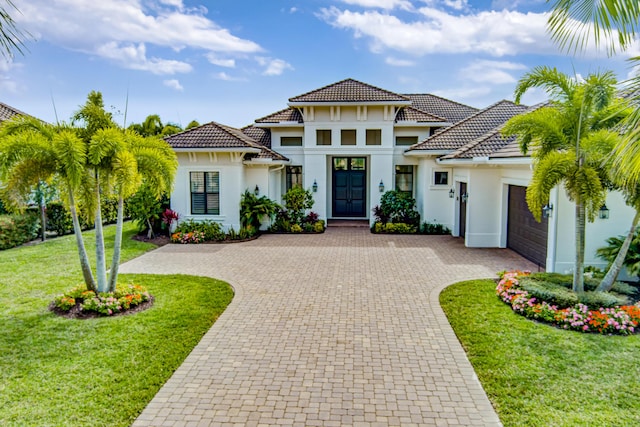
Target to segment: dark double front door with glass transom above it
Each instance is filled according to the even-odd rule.
[[[366,216],[367,159],[333,158],[333,217]]]

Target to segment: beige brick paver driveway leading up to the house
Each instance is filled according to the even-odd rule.
[[[511,268],[535,267],[352,228],[164,246],[121,271],[220,278],[236,295],[134,425],[499,425],[438,294]]]

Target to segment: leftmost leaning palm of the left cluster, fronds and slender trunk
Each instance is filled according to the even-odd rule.
[[[5,200],[19,206],[33,186],[58,177],[68,197],[85,284],[87,289],[96,290],[76,208],[76,194],[87,181],[85,163],[85,144],[64,125],[52,126],[32,117],[18,117],[2,126],[0,180],[5,183]]]

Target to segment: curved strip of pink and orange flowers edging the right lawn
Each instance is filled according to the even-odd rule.
[[[496,287],[498,297],[516,313],[581,332],[611,335],[630,335],[636,332],[640,323],[640,303],[597,310],[589,309],[585,304],[558,308],[546,301],[538,301],[520,287],[518,277],[527,275],[529,273],[524,271],[504,273]]]

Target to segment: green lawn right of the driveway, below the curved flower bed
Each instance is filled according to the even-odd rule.
[[[492,280],[452,285],[440,303],[505,426],[640,425],[640,335],[528,320]]]

